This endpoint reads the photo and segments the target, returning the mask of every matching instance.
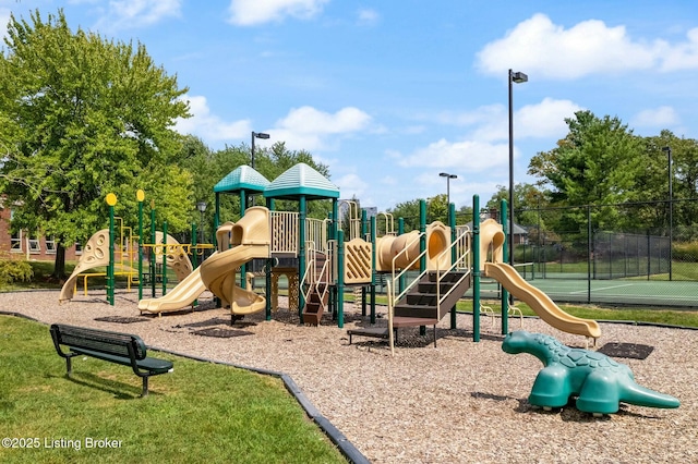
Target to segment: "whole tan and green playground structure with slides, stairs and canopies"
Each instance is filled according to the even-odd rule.
[[[453,205],[449,205],[449,224],[438,221],[426,224],[426,206],[422,200],[419,231],[396,232],[392,217],[388,222],[388,215],[385,215],[384,234],[376,236],[376,217],[368,219],[365,211],[359,211],[357,204],[339,202],[338,188],[308,164],[296,164],[274,182],[268,182],[252,168],[242,166],[221,180],[214,192],[216,253],[200,267],[193,269],[188,256],[195,245],[179,244],[169,235],[167,242],[163,243],[166,227],[164,233],[152,235],[153,244],[141,246],[151,249],[151,264],[161,257],[167,267],[174,270],[179,281],[169,292],[166,292],[164,283],[160,297],[155,297],[155,286],[153,297],[142,298],[140,295],[139,310],[142,314],[161,315],[185,309],[194,305],[205,290],[209,290],[222,306],[230,309],[233,320],[261,310],[265,310],[266,319],[270,320],[272,306],[274,304],[276,308],[274,302],[278,300],[278,277],[286,274],[290,283],[289,308],[298,310],[301,323],[317,326],[323,315],[328,313],[342,328],[345,289],[353,288],[354,295],[362,298],[363,316],[366,316],[366,298],[370,301],[371,325],[375,325],[375,288],[378,279],[382,279],[388,289],[388,328],[359,329],[353,332],[388,338],[393,351],[394,333],[401,327],[420,327],[420,332],[425,334],[425,328],[433,326],[436,345],[436,325],[450,314],[450,326],[455,328],[456,303],[472,285],[473,340],[479,341],[479,281],[484,274],[503,286],[502,333],[508,331],[508,298],[505,297],[508,291],[529,304],[551,326],[593,338],[594,341],[600,337],[595,321],[566,314],[505,264],[506,237],[502,224],[488,220],[480,225],[479,218],[474,218],[473,230],[457,227]],[[221,193],[240,195],[241,219],[237,223],[218,225],[218,195]],[[253,194],[263,194],[266,206],[245,207],[248,197]],[[276,198],[298,200],[298,212],[274,210]],[[327,219],[305,217],[306,202],[312,199],[332,200],[332,212]],[[139,202],[142,208],[142,192]],[[116,197],[111,203],[108,198],[107,203],[112,215]],[[478,210],[477,195],[473,196],[473,203]],[[345,220],[340,220],[339,204],[347,207]],[[141,218],[142,210],[139,236],[143,235]],[[151,222],[154,224],[155,219]],[[113,227],[113,218],[110,223]],[[130,239],[129,243],[132,242],[133,239]],[[83,256],[84,260],[81,259],[63,286],[61,301],[69,301],[73,296],[76,279],[87,269],[115,262],[115,258],[108,256],[113,255],[116,247],[110,249],[104,230],[95,234],[85,248],[87,253]],[[296,264],[291,267],[288,264],[277,266],[277,258],[291,258]],[[246,272],[245,268],[254,260],[263,261],[261,274],[266,277],[265,290],[258,293],[251,284],[251,277],[254,276]],[[136,276],[140,285],[145,276],[141,264],[137,271],[133,266],[128,268],[130,280]],[[258,262],[256,268],[260,268]],[[124,270],[119,268],[119,271]]]

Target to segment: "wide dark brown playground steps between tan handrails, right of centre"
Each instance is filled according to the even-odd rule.
[[[452,271],[442,276],[430,271],[395,304],[393,327],[436,326],[450,308],[470,289],[470,276],[462,279],[466,271]],[[440,289],[436,289],[436,286]],[[437,292],[438,290],[438,292]],[[441,295],[442,302],[438,303]],[[444,296],[445,295],[445,296]]]

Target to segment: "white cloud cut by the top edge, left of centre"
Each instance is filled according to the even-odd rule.
[[[329,0],[231,0],[229,22],[239,26],[252,26],[286,16],[301,20],[320,13]]]

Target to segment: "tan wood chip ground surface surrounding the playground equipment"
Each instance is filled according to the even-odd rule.
[[[400,329],[395,357],[386,341],[347,329],[371,327],[347,304],[344,329],[329,318],[321,327],[299,325],[281,309],[230,325],[205,293],[195,310],[140,318],[135,291],[82,293],[59,305],[59,292],[0,294],[0,310],[46,323],[63,322],[136,333],[148,346],[290,375],[308,399],[373,463],[698,463],[698,331],[601,323],[605,343],[653,346],[646,359],[627,364],[643,387],[676,396],[677,410],[622,405],[617,414],[594,418],[571,406],[544,412],[527,402],[541,363],[531,355],[502,351],[500,319],[483,317],[481,341],[472,341],[472,316],[458,315],[457,329],[444,318],[432,331]],[[378,316],[385,307],[377,307]],[[378,326],[385,326],[380,317]],[[585,339],[561,332],[538,318],[522,328],[551,334],[569,346]],[[202,330],[239,329],[244,337],[205,337]],[[509,330],[519,320],[509,320]],[[48,331],[47,331],[48,337]],[[57,369],[63,365],[57,357]],[[177,375],[177,369],[174,374]],[[154,382],[153,390],[157,390]],[[236,401],[231,398],[230,401]],[[191,437],[195,438],[195,437]],[[204,437],[202,437],[204,439]]]

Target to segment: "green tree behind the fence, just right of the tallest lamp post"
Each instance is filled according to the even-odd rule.
[[[592,212],[593,228],[617,224],[618,210],[610,205],[633,198],[636,179],[642,169],[636,161],[643,152],[642,139],[618,118],[599,119],[590,111],[578,111],[565,119],[569,133],[557,147],[531,158],[529,174],[550,185],[551,200],[558,206],[600,205]],[[582,209],[564,217],[566,230],[583,232]]]

